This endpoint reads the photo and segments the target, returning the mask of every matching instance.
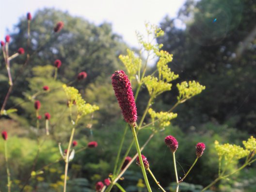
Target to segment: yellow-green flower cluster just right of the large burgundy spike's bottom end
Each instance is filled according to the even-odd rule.
[[[159,124],[161,128],[167,127],[170,125],[170,121],[177,117],[177,113],[173,112],[155,112],[152,108],[148,110],[148,113],[151,116],[152,121],[159,119]]]

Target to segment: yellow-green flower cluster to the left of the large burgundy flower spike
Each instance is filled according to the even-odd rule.
[[[64,91],[69,100],[68,106],[71,108],[75,101],[79,117],[82,117],[82,116],[92,113],[96,110],[99,110],[98,106],[86,103],[76,88],[68,87],[65,84],[63,85],[63,88],[64,88]]]

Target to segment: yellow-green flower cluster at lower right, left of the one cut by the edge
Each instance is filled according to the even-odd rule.
[[[219,144],[215,141],[215,149],[219,159],[224,158],[226,162],[231,163],[249,155],[250,151],[235,144]]]

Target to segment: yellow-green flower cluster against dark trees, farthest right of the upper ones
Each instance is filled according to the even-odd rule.
[[[189,82],[183,81],[180,84],[177,83],[177,88],[179,90],[179,96],[177,96],[177,99],[179,102],[184,102],[192,96],[200,94],[206,87],[193,80]]]

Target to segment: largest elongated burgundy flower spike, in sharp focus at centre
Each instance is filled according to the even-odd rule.
[[[129,124],[135,123],[137,120],[137,108],[131,83],[124,71],[114,72],[112,75],[112,86],[125,121]]]

